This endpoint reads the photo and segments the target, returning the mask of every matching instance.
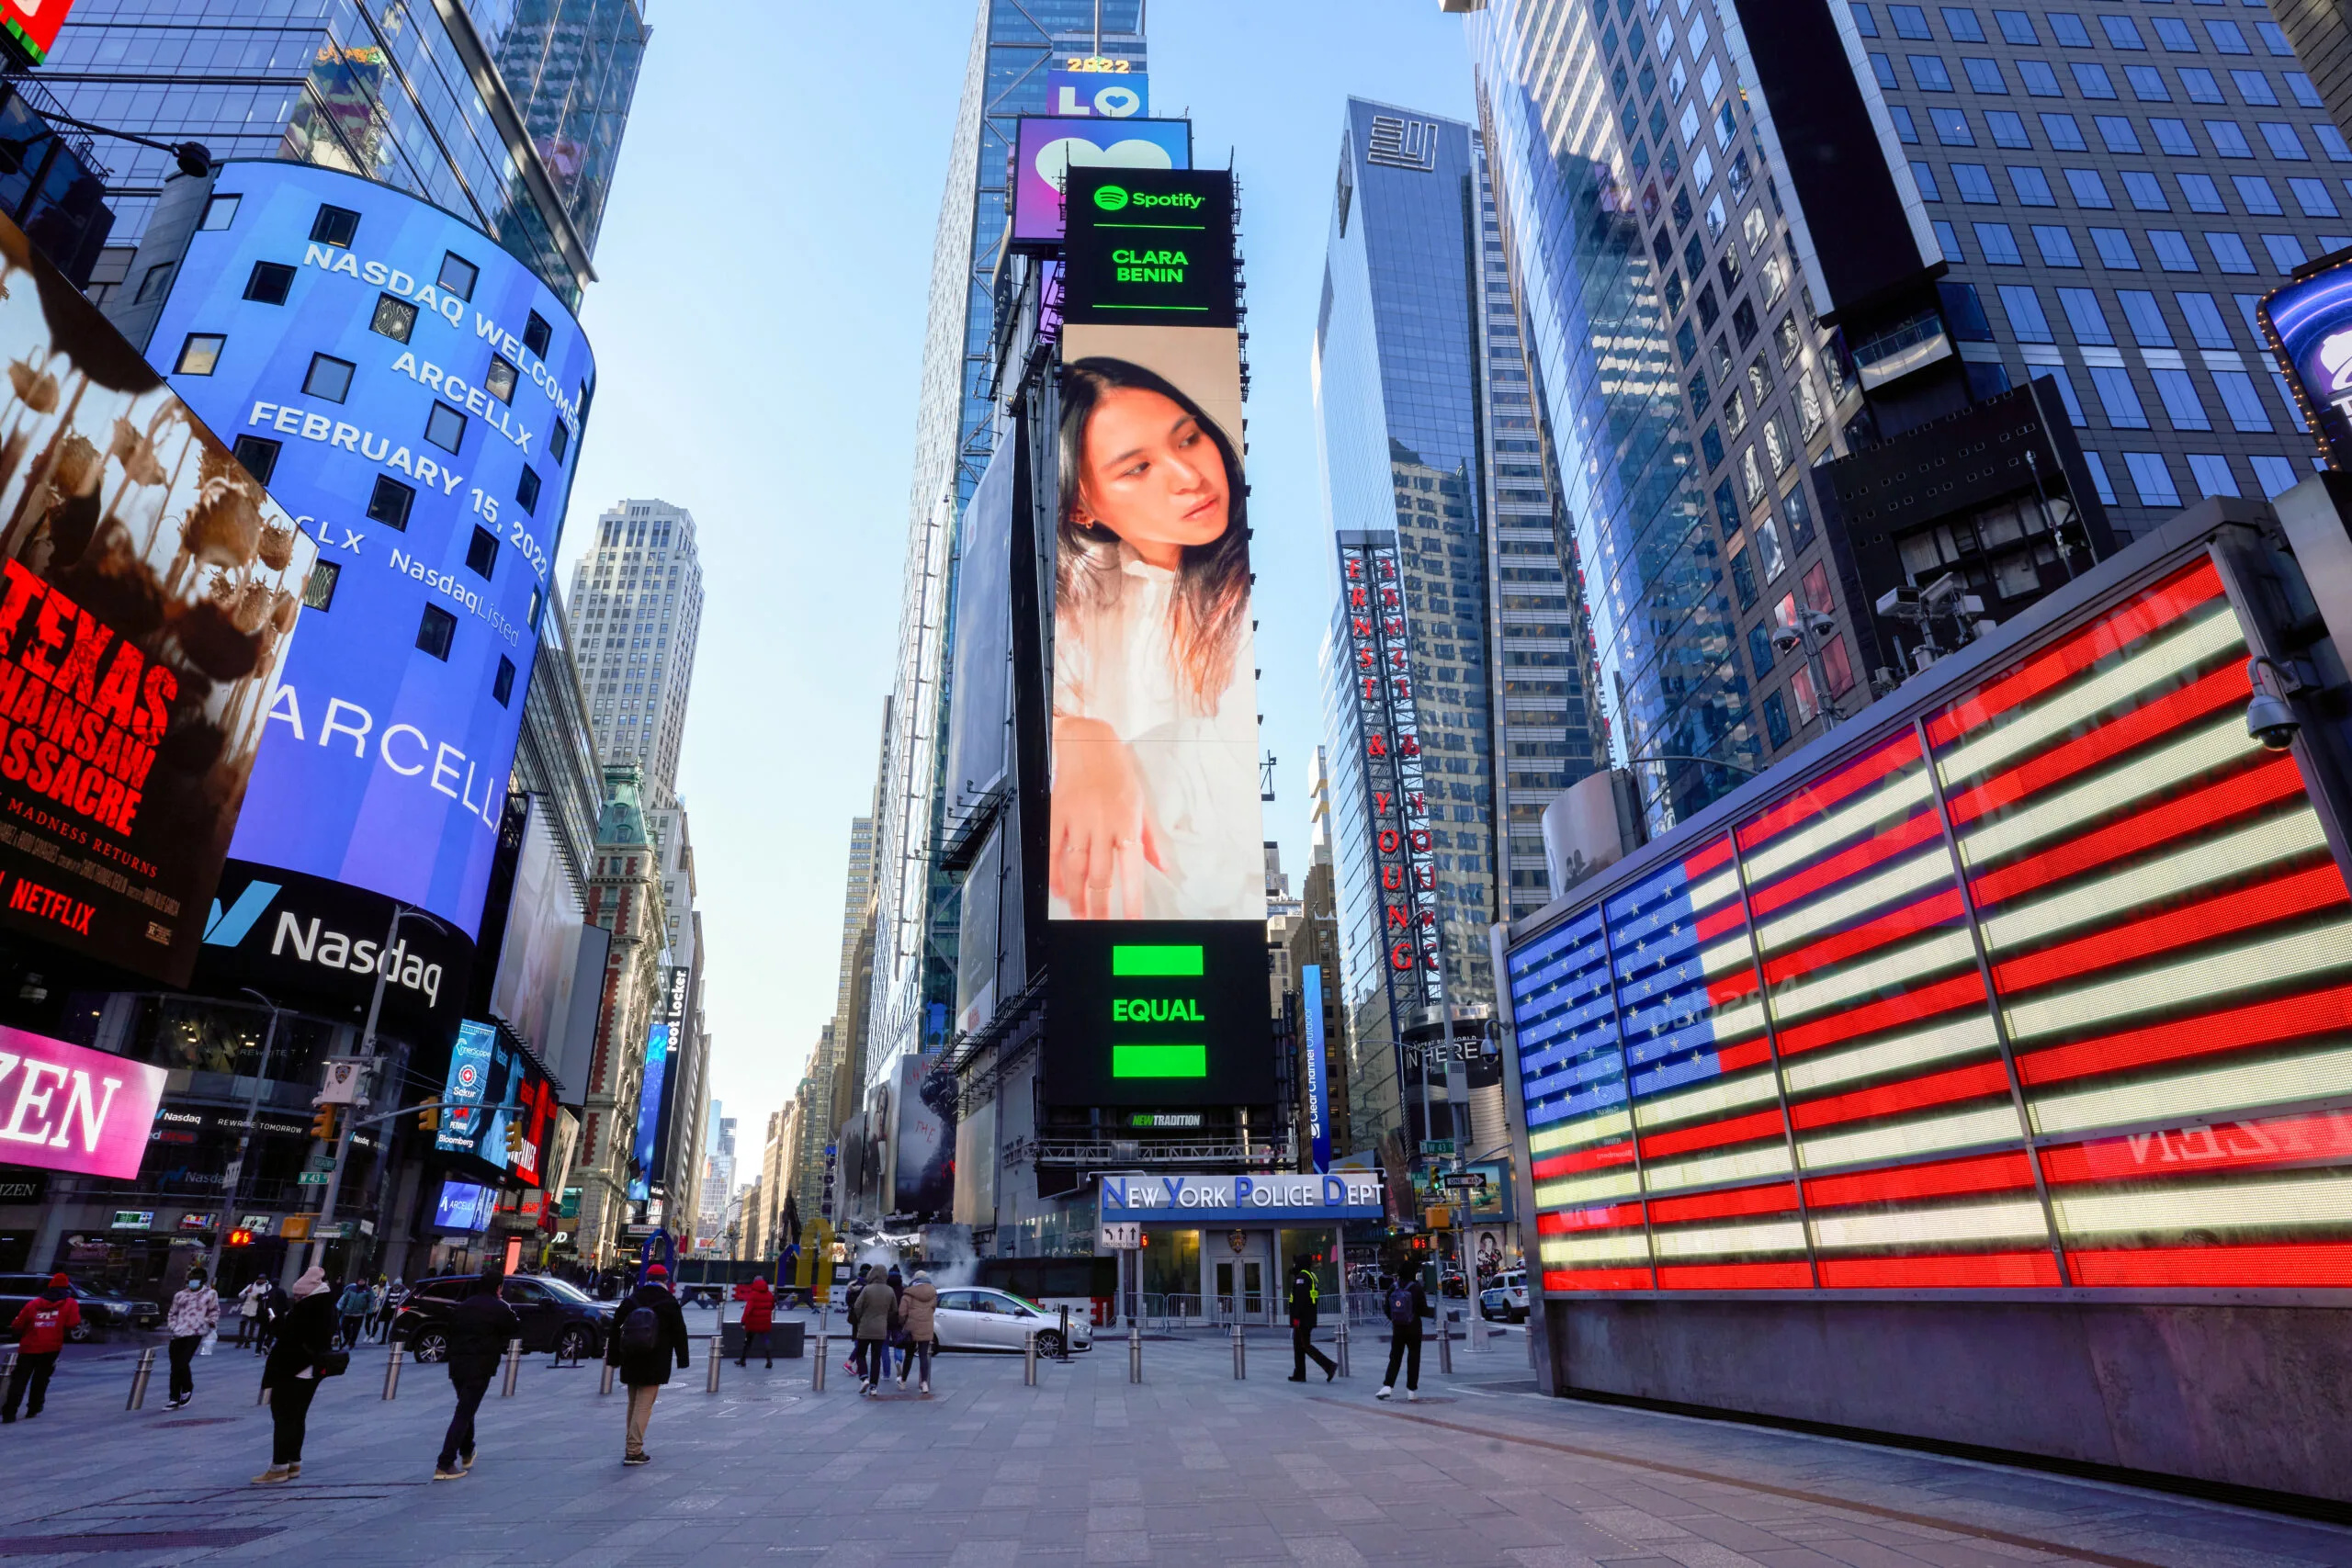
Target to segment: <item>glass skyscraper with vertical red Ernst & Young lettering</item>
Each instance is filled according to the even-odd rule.
[[[1472,127],[1348,101],[1315,400],[1338,545],[1327,809],[1357,1138],[1402,1128],[1418,1091],[1399,1086],[1442,1046],[1442,1001],[1465,1023],[1456,1056],[1479,1056],[1494,1006],[1484,929],[1548,900],[1543,804],[1592,759],[1578,616],[1494,233]],[[1446,1070],[1430,1081],[1442,1088]]]

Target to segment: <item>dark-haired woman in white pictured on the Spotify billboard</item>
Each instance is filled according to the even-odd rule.
[[[1232,440],[1157,371],[1063,367],[1058,536],[1051,914],[1263,919]]]

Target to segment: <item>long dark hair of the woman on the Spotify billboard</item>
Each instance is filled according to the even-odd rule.
[[[1176,614],[1169,625],[1169,663],[1195,712],[1216,712],[1232,682],[1232,658],[1249,614],[1249,508],[1242,494],[1242,456],[1232,437],[1181,388],[1127,360],[1077,360],[1061,369],[1061,552],[1054,564],[1056,604],[1101,604],[1117,583],[1120,536],[1103,524],[1080,522],[1084,508],[1087,425],[1103,393],[1160,393],[1192,416],[1216,442],[1225,463],[1225,534],[1209,545],[1185,545],[1176,569]]]

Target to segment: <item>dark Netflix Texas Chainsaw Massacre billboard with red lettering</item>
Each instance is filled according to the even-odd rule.
[[[7,221],[0,268],[0,926],[186,985],[318,548]]]

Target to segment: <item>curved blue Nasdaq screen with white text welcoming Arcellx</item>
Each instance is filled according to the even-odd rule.
[[[233,851],[473,936],[588,341],[522,261],[437,207],[228,162],[148,357],[322,555]]]

